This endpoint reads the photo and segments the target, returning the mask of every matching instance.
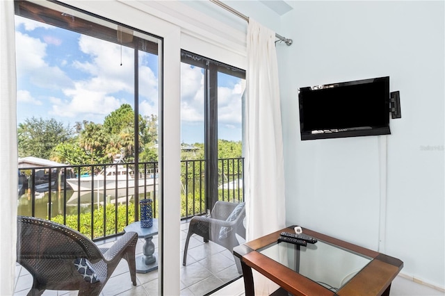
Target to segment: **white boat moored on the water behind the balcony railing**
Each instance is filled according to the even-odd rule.
[[[79,176],[67,179],[66,182],[74,191],[113,190],[134,188],[136,179],[134,171],[124,165],[113,165],[94,176]],[[154,186],[159,183],[156,174],[140,174],[139,186]]]

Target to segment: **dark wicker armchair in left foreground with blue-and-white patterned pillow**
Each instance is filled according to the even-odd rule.
[[[79,295],[99,295],[121,258],[127,261],[136,286],[137,240],[136,232],[128,232],[109,249],[99,249],[92,240],[64,225],[17,217],[17,262],[33,276],[28,295],[42,295],[44,290],[79,290]],[[79,259],[83,263],[86,259],[86,270],[95,272],[94,281],[87,281],[79,273],[74,265]]]

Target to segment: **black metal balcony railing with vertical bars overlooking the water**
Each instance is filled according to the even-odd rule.
[[[207,211],[204,163],[181,161],[181,219]],[[158,163],[134,169],[134,163],[20,168],[18,213],[66,224],[92,240],[117,236],[138,220],[139,199],[153,199],[159,216]],[[243,158],[220,159],[218,170],[218,199],[243,201]]]

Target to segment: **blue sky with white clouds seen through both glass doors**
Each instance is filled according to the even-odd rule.
[[[17,123],[54,118],[65,126],[133,106],[133,49],[15,16]],[[159,59],[140,51],[139,112],[158,115]],[[122,64],[122,65],[121,65]],[[218,74],[218,138],[241,140],[244,81]],[[181,64],[181,142],[204,142],[204,75]]]

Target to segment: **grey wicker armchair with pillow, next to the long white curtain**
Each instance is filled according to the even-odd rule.
[[[236,208],[236,210],[235,210]],[[236,217],[231,216],[236,212]],[[232,214],[233,215],[233,214]],[[243,220],[245,217],[245,204],[237,204],[233,202],[216,202],[209,216],[194,216],[188,225],[188,233],[186,245],[184,246],[184,258],[182,265],[186,265],[188,242],[193,234],[202,236],[204,242],[211,240],[218,245],[225,247],[233,254],[233,249],[239,245],[236,234],[245,238],[245,227]],[[241,261],[234,256],[236,268],[242,274]]]

